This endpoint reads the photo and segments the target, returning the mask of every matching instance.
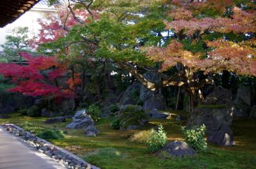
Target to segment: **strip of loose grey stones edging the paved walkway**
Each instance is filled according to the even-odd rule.
[[[28,131],[24,131],[22,128],[16,126],[15,124],[3,124],[0,127],[19,137],[23,142],[28,143],[29,146],[37,149],[39,152],[46,154],[66,168],[100,169],[97,166],[86,163],[86,161],[83,159],[78,158],[74,154],[61,149],[60,147],[53,145],[46,140],[39,138]]]

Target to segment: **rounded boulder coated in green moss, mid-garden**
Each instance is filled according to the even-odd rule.
[[[148,123],[148,115],[136,105],[128,105],[120,112],[120,129],[138,129]]]

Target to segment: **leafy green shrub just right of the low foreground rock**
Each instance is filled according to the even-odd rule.
[[[181,128],[182,133],[185,136],[185,142],[188,143],[189,147],[196,151],[205,151],[207,149],[207,143],[205,142],[205,125],[187,129],[186,127]]]

